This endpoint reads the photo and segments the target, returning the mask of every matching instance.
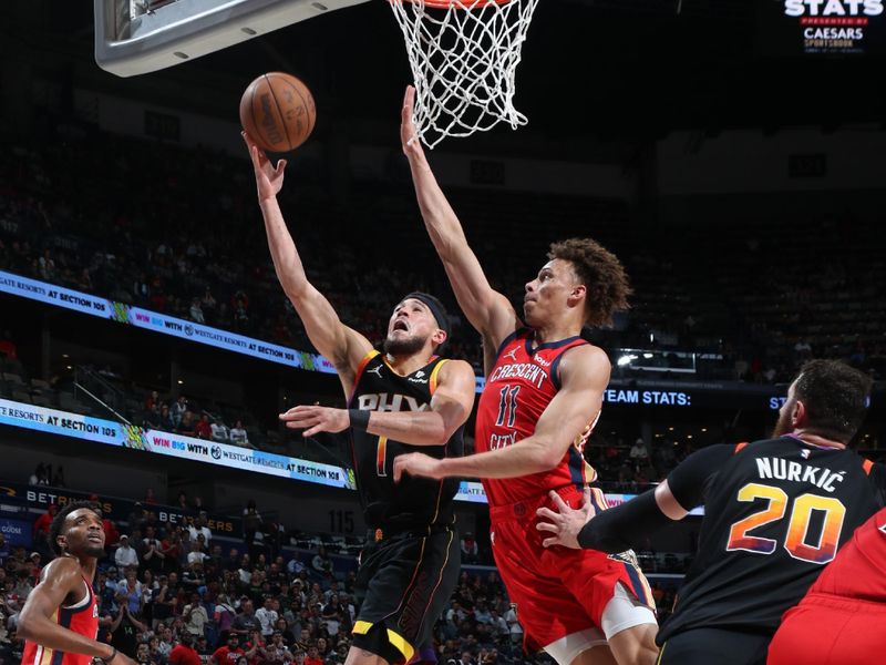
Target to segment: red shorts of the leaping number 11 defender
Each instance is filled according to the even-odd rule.
[[[560,495],[574,508],[581,503],[581,493],[574,488],[564,488]],[[543,548],[546,535],[536,529],[535,514],[542,505],[556,510],[547,497],[490,509],[495,563],[511,602],[516,603],[528,652],[574,633],[599,631],[604,626],[604,610],[616,596],[619,583],[638,604],[655,612],[649,583],[632,552],[605,554],[596,550]],[[655,623],[655,615],[643,611],[633,623],[610,626],[606,637],[641,623]],[[601,631],[599,637],[602,643]]]

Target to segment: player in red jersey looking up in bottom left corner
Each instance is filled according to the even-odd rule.
[[[49,529],[53,559],[19,615],[24,638],[22,665],[135,665],[110,644],[97,642],[99,606],[92,592],[95,565],[104,554],[102,518],[92,503],[69,503]]]

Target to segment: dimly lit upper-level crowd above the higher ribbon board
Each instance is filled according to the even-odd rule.
[[[0,157],[0,268],[310,350],[277,284],[244,160],[68,132],[63,142]],[[107,154],[119,155],[113,170],[91,167]],[[176,164],[175,175],[162,167],[168,163]],[[514,301],[552,238],[581,228],[614,248],[636,294],[631,311],[599,336],[610,350],[707,354],[697,369],[702,378],[781,381],[808,355],[886,375],[886,298],[877,278],[886,259],[864,221],[749,221],[717,234],[694,227],[674,234],[641,225],[631,231],[624,202],[450,194],[491,282]],[[284,208],[298,213],[293,232],[310,278],[371,339],[382,336],[392,298],[405,291],[431,290],[454,305],[412,198],[402,185],[354,183],[350,200],[339,202],[310,176],[282,193]],[[549,221],[539,227],[538,218]],[[799,241],[796,224],[804,231]],[[398,235],[409,252],[392,263],[384,244],[358,250],[340,242],[368,227]],[[502,252],[502,238],[517,232],[522,242]],[[822,252],[824,269],[805,269]],[[449,352],[480,370],[477,337],[457,315],[453,324]]]

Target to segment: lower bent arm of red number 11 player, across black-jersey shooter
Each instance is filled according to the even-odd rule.
[[[402,454],[394,460],[394,479],[404,472],[430,478],[516,478],[553,469],[599,412],[609,370],[602,350],[591,346],[569,350],[560,361],[560,390],[542,413],[532,437],[463,458],[435,460],[421,453]]]

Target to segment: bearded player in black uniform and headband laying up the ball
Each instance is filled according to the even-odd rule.
[[[463,454],[464,422],[474,406],[474,370],[436,352],[449,317],[433,296],[411,293],[394,307],[384,352],[341,323],[308,282],[277,194],[286,162],[274,167],[244,133],[255,168],[274,266],[313,346],[336,367],[347,409],[300,406],[282,413],[287,427],[349,430],[357,485],[370,528],[356,596],[360,612],[346,665],[406,663],[430,644],[461,566],[453,498],[457,481],[394,483],[392,460],[423,450],[432,458]]]

